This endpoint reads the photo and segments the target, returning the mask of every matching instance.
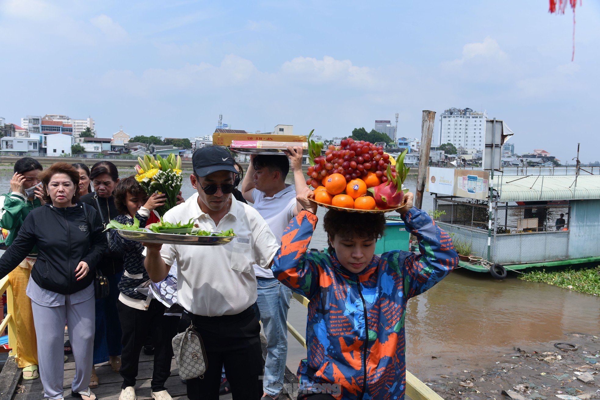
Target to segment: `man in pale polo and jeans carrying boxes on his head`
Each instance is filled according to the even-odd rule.
[[[302,149],[291,149],[290,154],[292,169],[295,170],[294,177],[299,179],[296,179],[296,185],[305,187],[302,176]],[[298,209],[297,206],[295,187],[286,184],[289,169],[289,160],[283,154],[256,155],[250,157],[250,166],[242,182],[244,199],[254,203],[254,209],[265,218],[278,242],[281,242],[281,236],[290,219],[302,209]],[[292,291],[274,278],[270,269],[254,265],[254,273],[258,290],[256,314],[263,323],[267,342],[262,398],[272,400],[277,399],[283,388],[287,357],[286,321]],[[226,374],[229,377],[227,369]]]

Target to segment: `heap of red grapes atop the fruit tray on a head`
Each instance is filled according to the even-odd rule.
[[[386,170],[390,164],[389,154],[383,152],[383,146],[375,146],[361,140],[357,142],[352,138],[343,139],[341,146],[329,145],[325,155],[314,158],[314,167],[308,167],[307,185],[319,187],[325,176],[340,173],[346,178],[363,178],[373,172],[380,182],[388,181]],[[396,175],[396,168],[391,166],[392,176]]]

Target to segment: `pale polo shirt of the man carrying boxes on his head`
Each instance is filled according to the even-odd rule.
[[[275,235],[278,243],[281,243],[281,236],[290,219],[294,216],[296,207],[296,189],[293,185],[288,185],[284,190],[275,194],[273,197],[265,197],[265,193],[254,189],[252,191],[252,200],[254,209],[257,210]],[[254,264],[254,273],[262,278],[274,278],[270,269],[263,269]]]

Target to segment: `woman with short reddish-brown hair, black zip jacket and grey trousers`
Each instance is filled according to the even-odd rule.
[[[74,396],[94,400],[89,390],[94,347],[94,284],[96,264],[106,248],[100,216],[78,203],[79,173],[67,163],[55,163],[40,174],[42,207],[23,221],[13,244],[0,258],[0,278],[13,270],[34,246],[38,258],[27,295],[37,332],[38,362],[44,397],[64,397],[63,338],[65,319],[76,362]]]

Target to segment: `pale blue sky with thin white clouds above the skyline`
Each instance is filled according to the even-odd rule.
[[[323,137],[400,113],[485,109],[517,152],[600,160],[600,3],[0,0],[0,116],[92,116],[99,136],[294,125]],[[436,124],[436,129],[438,125]]]

